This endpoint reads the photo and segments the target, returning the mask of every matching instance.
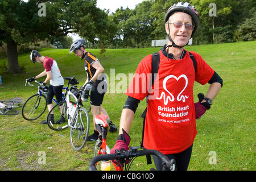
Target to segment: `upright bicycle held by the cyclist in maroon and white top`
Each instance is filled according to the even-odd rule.
[[[73,86],[79,84],[75,77],[67,77],[64,78],[64,80],[68,80],[68,86],[63,88],[63,101],[67,96],[69,85]],[[28,82],[28,79],[26,80],[25,86],[27,85],[27,83],[30,86],[34,86],[31,84],[31,82]],[[44,113],[44,111],[46,111],[47,108],[47,86],[43,88],[40,85],[40,82],[36,80],[35,83],[38,84],[38,93],[28,98],[22,107],[22,117],[28,121],[38,119]],[[52,101],[53,103],[57,104],[57,101],[54,98],[52,99]]]

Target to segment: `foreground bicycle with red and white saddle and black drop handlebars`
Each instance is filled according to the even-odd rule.
[[[108,134],[108,123],[110,119],[107,115],[101,114],[97,115],[95,119],[96,129],[100,133],[98,140],[96,140],[94,147],[94,158],[90,160],[89,171],[97,170],[110,170],[109,160],[117,160],[119,165],[114,163],[113,166],[116,171],[123,171],[121,163],[124,163],[126,159],[130,159],[129,164],[125,166],[124,171],[129,171],[131,164],[134,159],[138,156],[156,155],[163,161],[163,171],[171,169],[175,171],[176,162],[174,159],[170,160],[167,156],[163,155],[161,152],[156,150],[138,150],[139,147],[129,147],[129,151],[120,152],[115,150],[115,154],[110,154],[110,148],[106,143],[106,135]],[[101,161],[101,163],[99,163]]]

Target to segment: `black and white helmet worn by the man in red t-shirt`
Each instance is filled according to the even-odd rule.
[[[188,15],[190,15],[192,17],[193,24],[195,26],[195,28],[193,29],[193,32],[191,34],[191,38],[192,38],[196,32],[197,27],[199,27],[199,22],[200,22],[200,16],[199,16],[199,13],[197,13],[197,11],[196,11],[195,6],[192,6],[188,2],[179,2],[177,4],[174,4],[167,10],[166,16],[164,17],[164,23],[168,22],[170,16],[177,12],[187,13]],[[170,35],[168,36],[168,39],[172,42],[172,46],[177,47],[177,48],[182,48],[180,46],[176,46],[174,41],[171,39]]]

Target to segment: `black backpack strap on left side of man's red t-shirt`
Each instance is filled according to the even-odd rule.
[[[151,75],[150,89],[151,89],[151,86],[155,82],[156,74],[158,73],[158,69],[159,69],[159,64],[160,64],[160,55],[159,55],[159,52],[155,52],[152,54],[152,63],[151,63],[151,67],[152,67],[151,74],[152,75]],[[144,110],[144,112],[141,115],[141,117],[143,118],[143,130],[142,130],[142,141],[141,141],[140,147],[143,149],[145,149],[143,147],[143,140],[144,140],[144,127],[145,127],[145,121],[146,121],[146,114],[147,114],[147,108]],[[146,155],[146,158],[147,158],[147,164],[152,164],[150,155]]]

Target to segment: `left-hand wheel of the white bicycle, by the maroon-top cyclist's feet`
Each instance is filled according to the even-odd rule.
[[[50,116],[51,114],[53,114],[53,117]],[[47,125],[50,129],[55,131],[67,128],[65,126],[68,125],[68,115],[65,101],[52,107],[47,115]]]

